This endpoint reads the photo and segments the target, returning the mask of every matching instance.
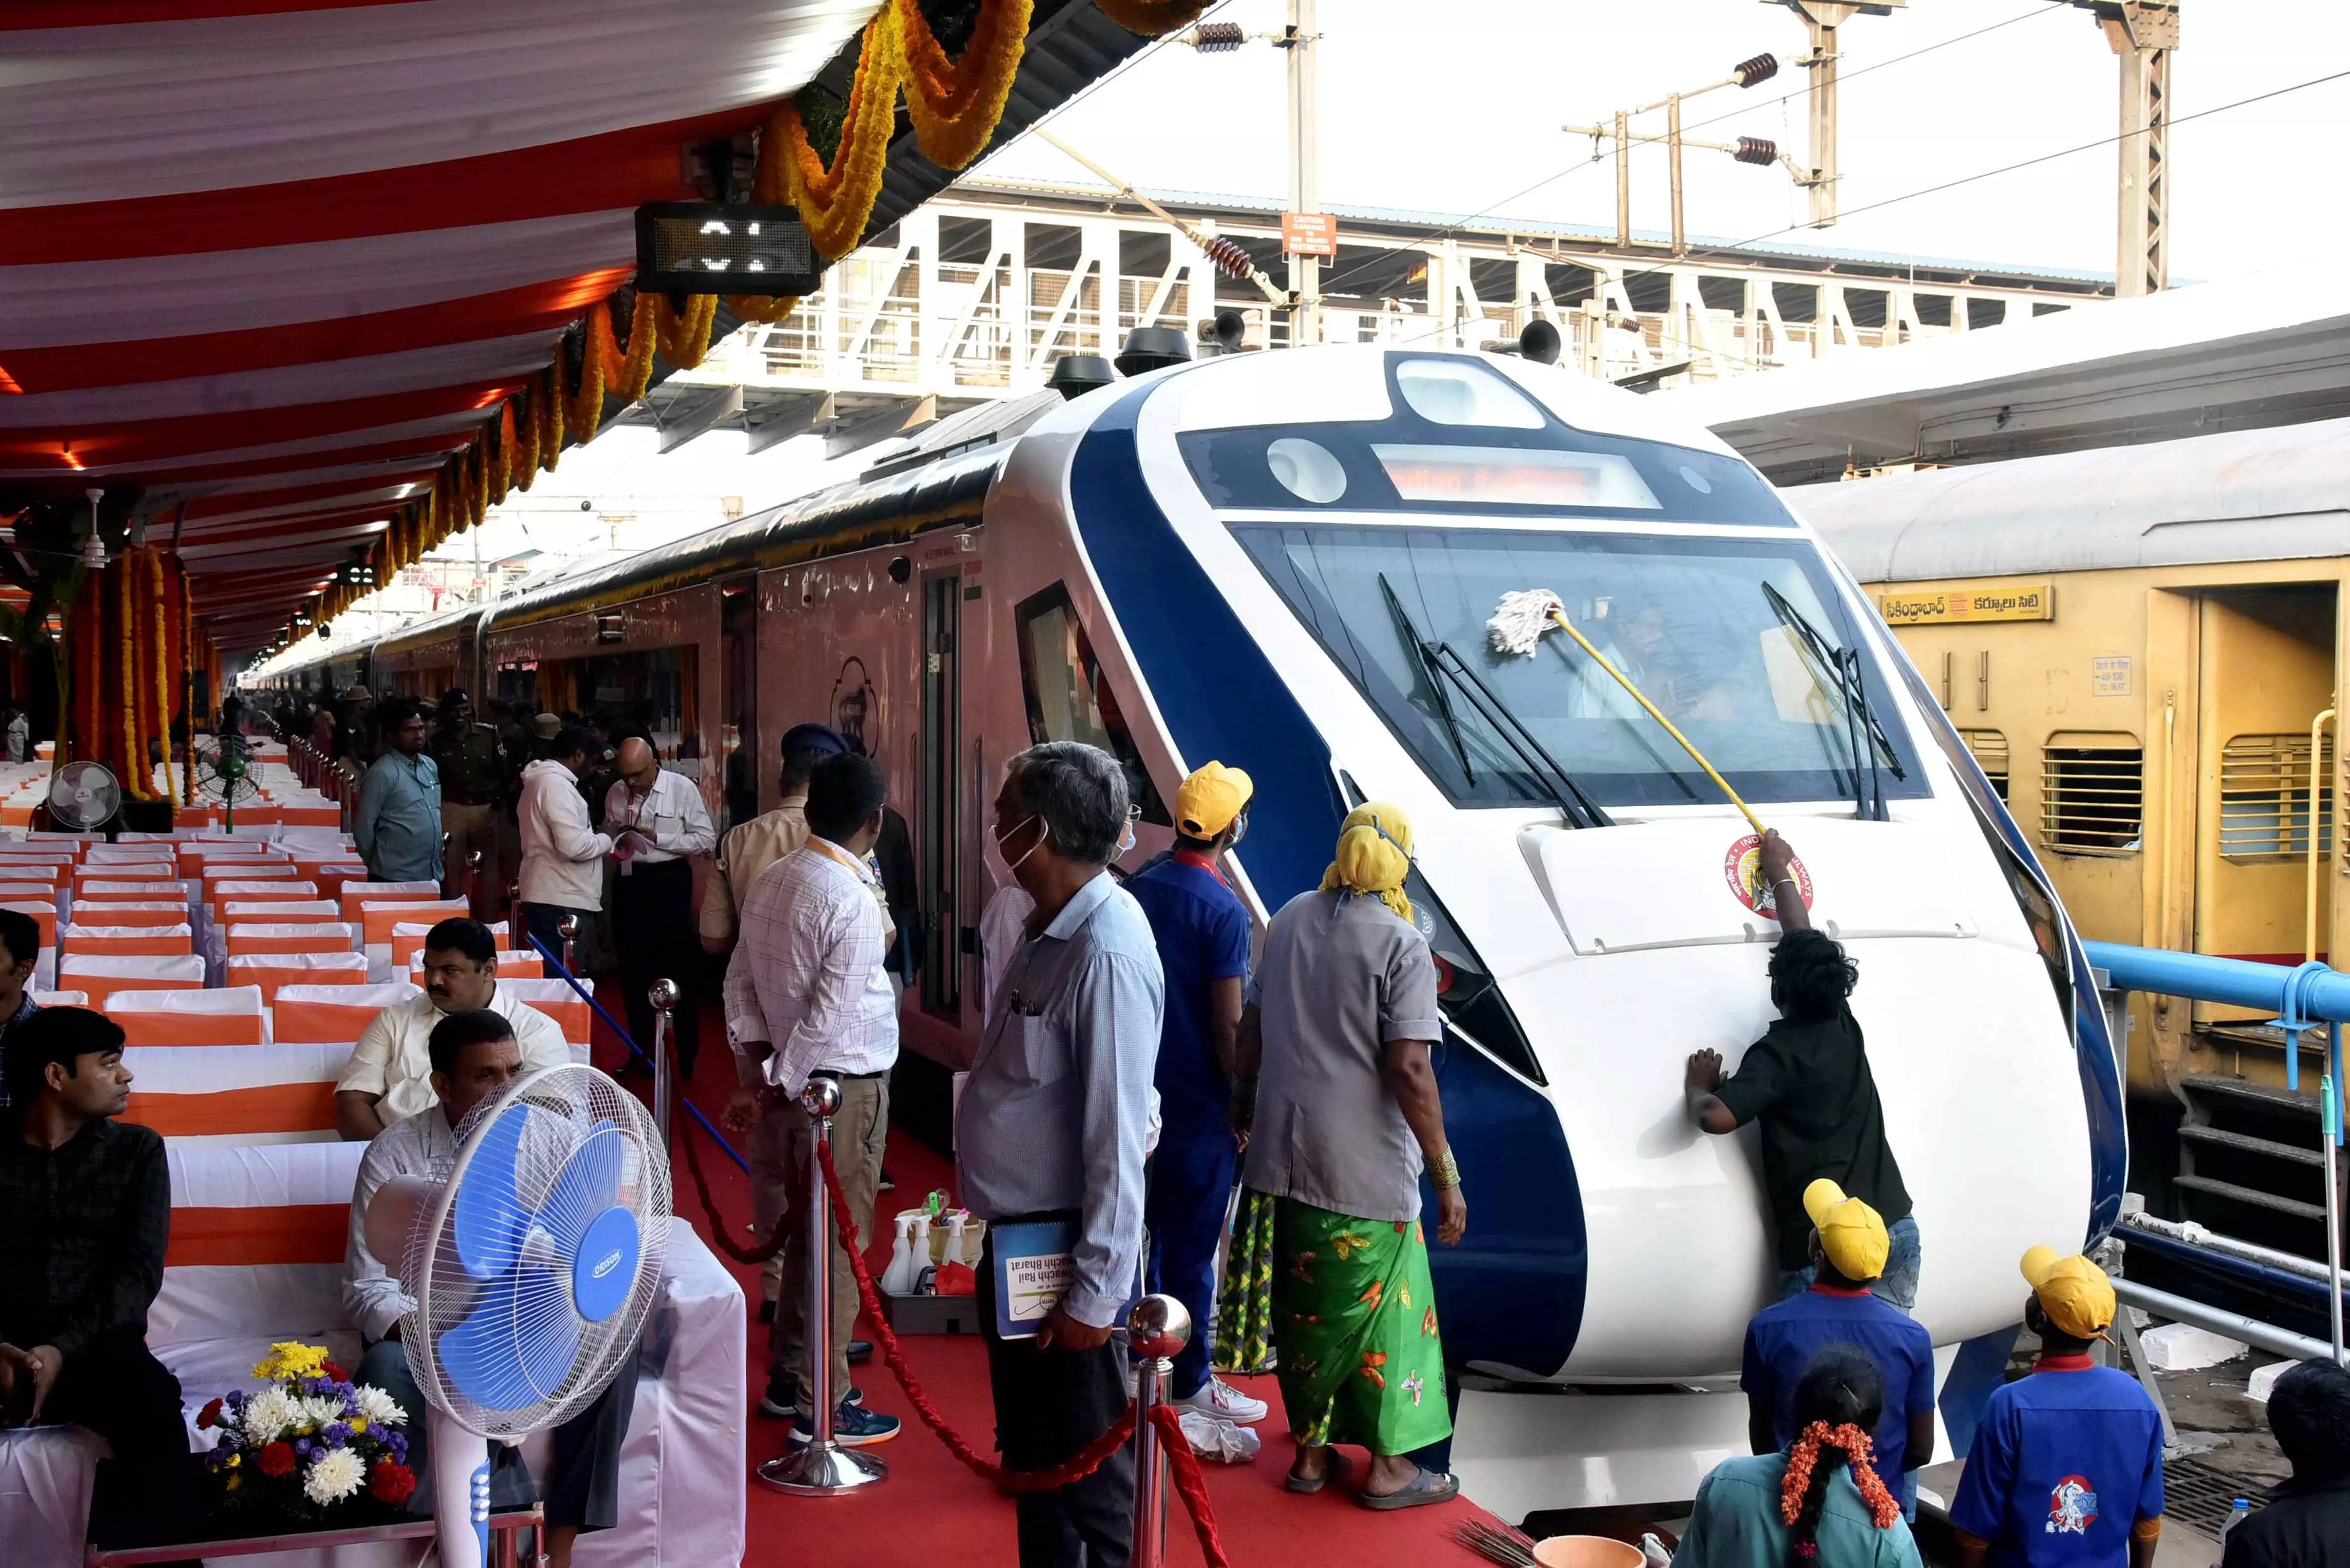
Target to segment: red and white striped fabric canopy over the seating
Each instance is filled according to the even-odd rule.
[[[630,282],[634,207],[693,195],[682,150],[846,89],[877,9],[0,9],[0,487],[141,487],[216,642],[266,642]],[[1142,42],[1036,0],[996,136]],[[949,179],[900,115],[872,226]]]

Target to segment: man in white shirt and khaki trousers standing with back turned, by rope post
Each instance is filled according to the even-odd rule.
[[[888,1143],[888,1070],[898,1063],[898,987],[881,966],[891,924],[881,879],[865,858],[881,837],[886,795],[881,764],[825,757],[808,778],[808,842],[766,867],[743,900],[743,938],[726,966],[726,1039],[738,1056],[759,1063],[761,1088],[736,1091],[726,1121],[752,1131],[752,1204],[761,1234],[773,1234],[785,1206],[806,1201],[815,1131],[799,1110],[799,1091],[822,1074],[841,1086],[832,1161],[848,1218],[858,1234],[872,1237]],[[846,1262],[834,1260],[832,1269],[832,1345],[808,1345],[806,1319],[806,1227],[792,1225],[759,1408],[797,1415],[792,1443],[806,1443],[815,1434],[808,1356],[830,1352],[839,1410],[832,1434],[846,1446],[898,1436],[898,1418],[865,1410],[858,1389],[848,1387],[858,1284]]]

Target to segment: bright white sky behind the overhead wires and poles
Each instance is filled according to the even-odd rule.
[[[2331,19],[2329,19],[2331,12]],[[1217,21],[1250,33],[1283,0],[1227,0]],[[2009,26],[1998,26],[2009,24]],[[1767,0],[1321,0],[1321,197],[1614,226],[1612,165],[1591,165],[1603,122],[1668,92],[1723,80],[1772,52],[1774,80],[1687,106],[1690,136],[1770,136],[1802,158],[1802,21]],[[1995,28],[1981,33],[1983,28]],[[1979,38],[1962,38],[1981,33]],[[1901,54],[1918,59],[1894,61]],[[2113,136],[2120,71],[2089,12],[2052,0],[1911,0],[1842,28],[1842,205]],[[1880,66],[1882,68],[1873,68]],[[2331,162],[2350,120],[2350,78],[2188,120],[2275,87],[2350,71],[2350,33],[2319,0],[2186,0],[2171,59],[2171,277],[2223,277],[2289,256],[2341,252],[2350,209]],[[1795,96],[1791,96],[1795,94]],[[1050,120],[1050,129],[1142,188],[1285,197],[1283,56],[1161,47]],[[1661,129],[1661,115],[1657,115]],[[1845,249],[2113,270],[2115,148],[1861,212],[1819,242]],[[1093,183],[1027,136],[980,174]],[[1558,179],[1551,179],[1558,176]],[[1784,169],[1687,155],[1692,235],[1744,240],[1805,219]],[[1664,153],[1633,162],[1633,223],[1666,226]]]

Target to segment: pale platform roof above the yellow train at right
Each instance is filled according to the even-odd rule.
[[[2317,268],[1840,353],[1657,393],[1779,484],[2350,414],[2350,306]]]

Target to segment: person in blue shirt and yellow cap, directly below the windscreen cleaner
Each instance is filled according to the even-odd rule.
[[[1746,1324],[1739,1387],[1746,1392],[1746,1436],[1755,1453],[1779,1453],[1795,1441],[1795,1385],[1812,1359],[1847,1345],[1875,1363],[1885,1406],[1871,1432],[1875,1469],[1901,1497],[1901,1514],[1918,1516],[1918,1469],[1934,1460],[1934,1335],[1925,1324],[1871,1293],[1885,1272],[1892,1239],[1885,1218],[1821,1178],[1805,1187],[1812,1218],[1810,1291],[1758,1312]]]

